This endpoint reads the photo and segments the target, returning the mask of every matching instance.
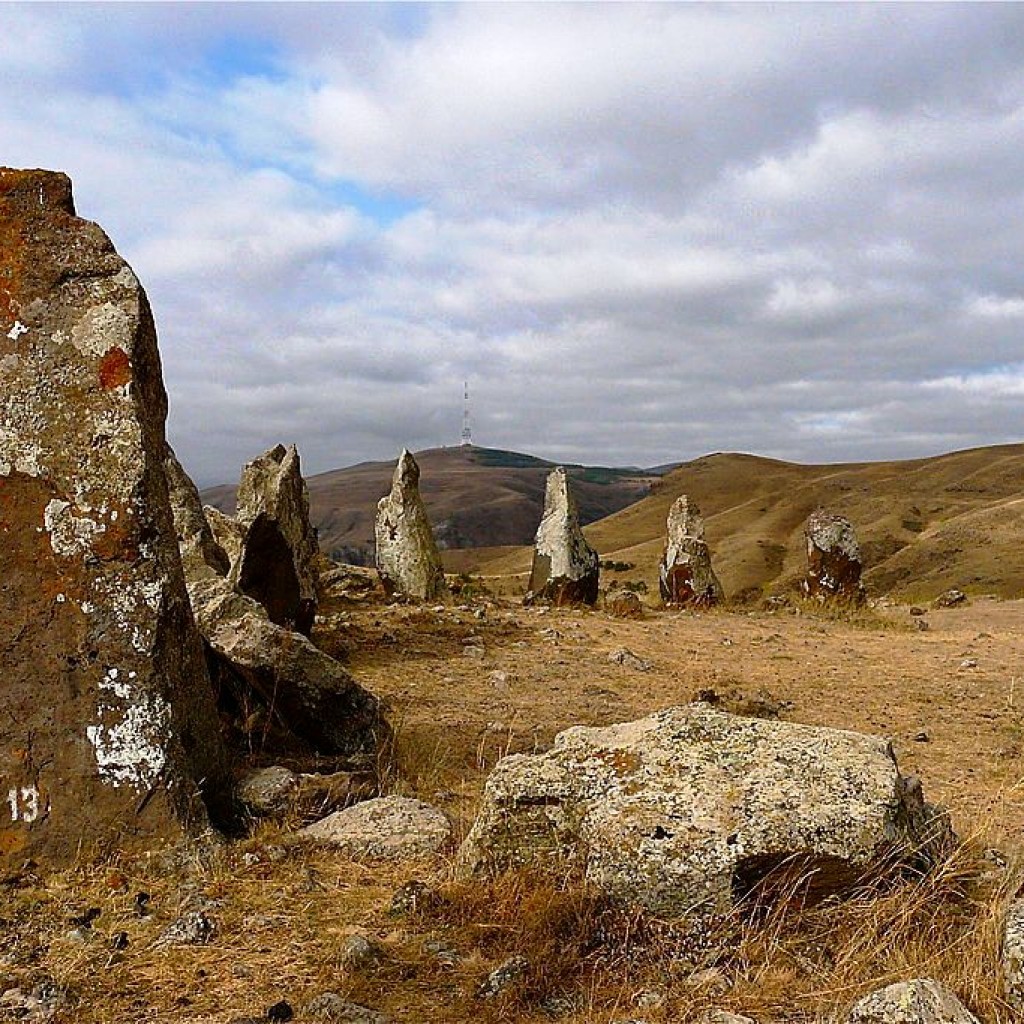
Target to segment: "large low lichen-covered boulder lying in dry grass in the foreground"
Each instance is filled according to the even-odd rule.
[[[947,836],[885,740],[691,705],[504,758],[459,865],[574,864],[629,902],[697,920],[784,863],[822,895]]]

